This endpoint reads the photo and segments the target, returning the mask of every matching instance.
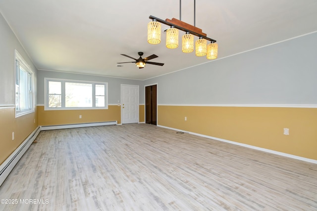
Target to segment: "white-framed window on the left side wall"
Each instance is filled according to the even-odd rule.
[[[15,116],[33,112],[33,73],[15,51]]]

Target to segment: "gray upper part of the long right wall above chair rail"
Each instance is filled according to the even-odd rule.
[[[317,105],[317,33],[144,81],[154,83],[158,104]]]

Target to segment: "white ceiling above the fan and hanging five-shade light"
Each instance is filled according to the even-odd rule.
[[[159,45],[147,43],[149,16],[179,19],[179,11],[179,0],[0,0],[38,69],[139,80],[212,62],[167,49],[164,33]],[[182,0],[181,20],[194,25],[194,0]],[[317,0],[197,0],[196,27],[217,41],[219,59],[317,31]],[[138,58],[138,52],[165,64],[116,66],[133,61],[120,53]]]

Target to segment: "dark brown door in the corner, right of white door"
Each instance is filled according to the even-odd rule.
[[[145,122],[157,125],[157,85],[145,87]]]

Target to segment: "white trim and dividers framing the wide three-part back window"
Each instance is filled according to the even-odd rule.
[[[61,82],[61,107],[49,107],[49,81]],[[66,107],[65,106],[65,83],[85,83],[92,84],[92,101],[96,100],[95,85],[105,85],[105,106],[97,107],[93,103],[92,107]],[[64,99],[64,100],[63,100]],[[96,109],[108,109],[108,83],[101,81],[84,81],[84,80],[72,80],[64,78],[44,78],[44,110],[96,110]]]

